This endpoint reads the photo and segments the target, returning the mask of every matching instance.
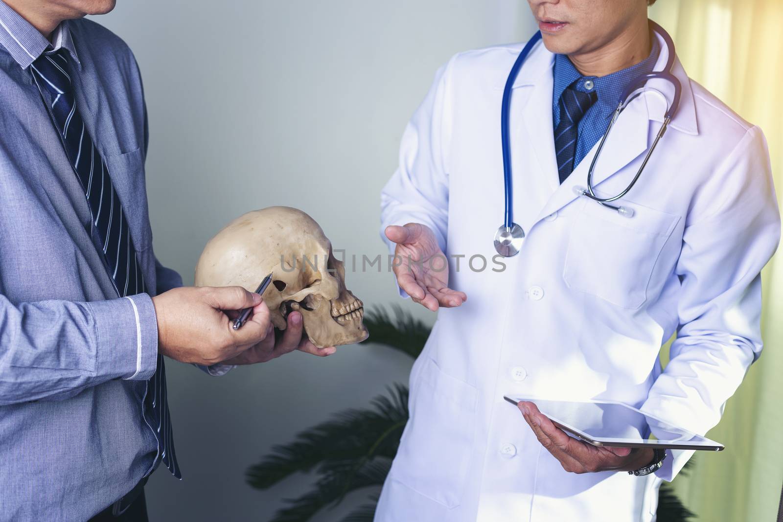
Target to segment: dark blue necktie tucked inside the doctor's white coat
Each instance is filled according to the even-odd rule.
[[[580,92],[573,88],[574,85],[576,82],[565,88],[560,95],[560,122],[554,129],[554,151],[561,183],[565,182],[565,178],[574,170],[579,121],[598,99],[595,91]]]

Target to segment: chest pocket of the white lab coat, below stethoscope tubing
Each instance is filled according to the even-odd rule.
[[[639,308],[656,262],[680,216],[637,204],[633,217],[585,200],[568,237],[563,279],[622,308]]]

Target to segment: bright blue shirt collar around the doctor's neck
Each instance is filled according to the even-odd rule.
[[[601,113],[604,116],[608,116],[615,109],[622,96],[622,91],[633,81],[634,78],[640,77],[642,74],[651,73],[655,70],[655,62],[658,61],[658,56],[661,51],[658,38],[652,38],[652,49],[650,56],[631,67],[618,70],[612,74],[606,76],[583,76],[579,70],[574,67],[574,64],[568,59],[568,56],[563,54],[555,55],[554,57],[554,89],[553,89],[553,102],[557,107],[557,103],[560,100],[565,88],[572,85],[578,80],[590,80],[593,81],[594,88],[591,89],[598,95],[596,105],[601,108]],[[577,90],[582,92],[590,92],[590,90],[584,88],[580,82],[576,85]]]

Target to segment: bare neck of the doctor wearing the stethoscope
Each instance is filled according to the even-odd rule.
[[[647,18],[627,26],[599,49],[568,55],[584,76],[606,76],[641,62],[652,50]]]

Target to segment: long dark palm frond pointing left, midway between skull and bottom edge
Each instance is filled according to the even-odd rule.
[[[350,409],[305,430],[287,445],[272,448],[247,470],[252,487],[267,489],[292,473],[352,463],[359,470],[373,456],[392,459],[408,420],[408,389],[395,385],[391,397],[374,398],[370,409]]]

